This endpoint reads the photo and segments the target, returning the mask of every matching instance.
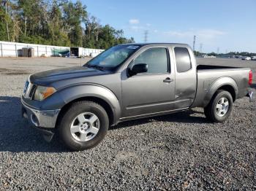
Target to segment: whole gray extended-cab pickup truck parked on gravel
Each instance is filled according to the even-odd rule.
[[[48,141],[59,133],[83,150],[126,120],[203,107],[208,120],[224,122],[250,84],[250,69],[197,66],[187,44],[121,44],[84,66],[32,74],[22,114]]]

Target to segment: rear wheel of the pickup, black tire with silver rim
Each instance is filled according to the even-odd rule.
[[[225,122],[232,109],[232,95],[225,90],[217,90],[210,103],[204,108],[204,113],[211,122]]]

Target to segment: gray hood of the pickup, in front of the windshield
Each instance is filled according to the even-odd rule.
[[[104,74],[110,74],[110,71],[101,71],[98,69],[91,69],[86,66],[73,66],[62,69],[53,69],[47,71],[41,71],[32,74],[30,81],[36,85],[49,85],[52,82],[74,79],[80,77],[99,76]]]

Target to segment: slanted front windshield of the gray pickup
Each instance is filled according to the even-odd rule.
[[[97,57],[89,61],[85,66],[95,67],[97,69],[116,69],[121,63],[127,60],[133,52],[138,50],[138,45],[117,45],[102,52]]]

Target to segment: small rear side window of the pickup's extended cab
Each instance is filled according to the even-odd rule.
[[[176,58],[176,67],[178,72],[188,71],[192,69],[189,51],[185,47],[175,47],[175,58]]]

